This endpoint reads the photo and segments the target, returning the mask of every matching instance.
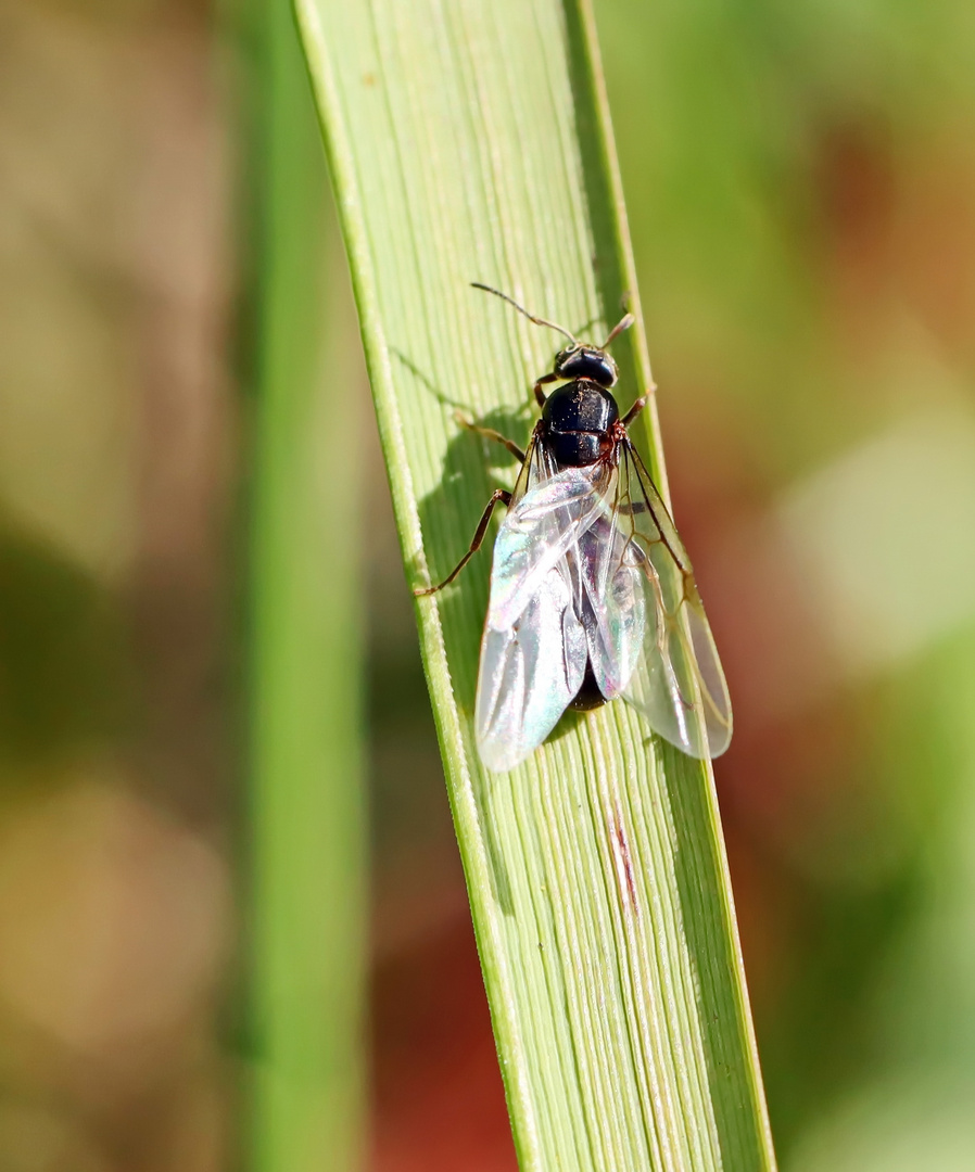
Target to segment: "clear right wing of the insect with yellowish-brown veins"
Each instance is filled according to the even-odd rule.
[[[692,757],[718,757],[731,741],[731,700],[691,563],[659,493],[627,443],[616,476],[611,530],[594,552],[590,599],[600,640],[623,640],[603,657],[608,683],[644,713],[651,728]],[[596,526],[595,529],[598,529]],[[595,532],[590,531],[590,532]],[[594,547],[595,547],[594,543]],[[643,608],[635,601],[643,581]],[[642,641],[639,654],[634,640]],[[590,653],[594,638],[589,636]],[[602,687],[596,656],[594,670]],[[622,665],[622,667],[619,667]],[[612,672],[616,675],[612,675]],[[609,695],[608,691],[604,691]]]

